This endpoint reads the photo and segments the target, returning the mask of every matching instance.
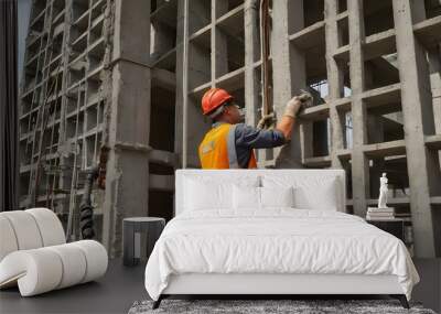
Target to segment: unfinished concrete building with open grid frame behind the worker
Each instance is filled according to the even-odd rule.
[[[314,106],[259,166],[343,167],[359,216],[386,172],[416,256],[441,257],[441,1],[272,0],[270,17],[276,115],[301,89]],[[260,59],[257,0],[34,0],[21,206],[53,208],[79,237],[85,176],[104,160],[95,228],[118,256],[122,218],[171,218],[174,170],[198,167],[207,88],[229,90],[256,126]]]

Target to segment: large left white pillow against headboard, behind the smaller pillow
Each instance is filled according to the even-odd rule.
[[[234,185],[258,186],[259,177],[238,177],[228,182],[228,177],[186,177],[184,210],[232,209]]]

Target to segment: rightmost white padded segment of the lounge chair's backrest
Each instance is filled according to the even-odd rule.
[[[47,208],[31,208],[24,212],[32,215],[35,219],[43,240],[43,247],[66,242],[62,223],[54,212]]]

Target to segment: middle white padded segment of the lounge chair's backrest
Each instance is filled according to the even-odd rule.
[[[24,210],[1,213],[14,230],[19,250],[36,249],[43,246],[39,226],[33,216]]]

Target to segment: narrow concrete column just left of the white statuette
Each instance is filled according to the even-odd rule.
[[[365,40],[363,1],[347,1],[349,25],[349,72],[352,87],[353,148],[352,182],[354,214],[364,216],[369,193],[369,164],[363,152],[367,143],[366,106],[362,99],[365,87],[365,68],[362,44]]]

